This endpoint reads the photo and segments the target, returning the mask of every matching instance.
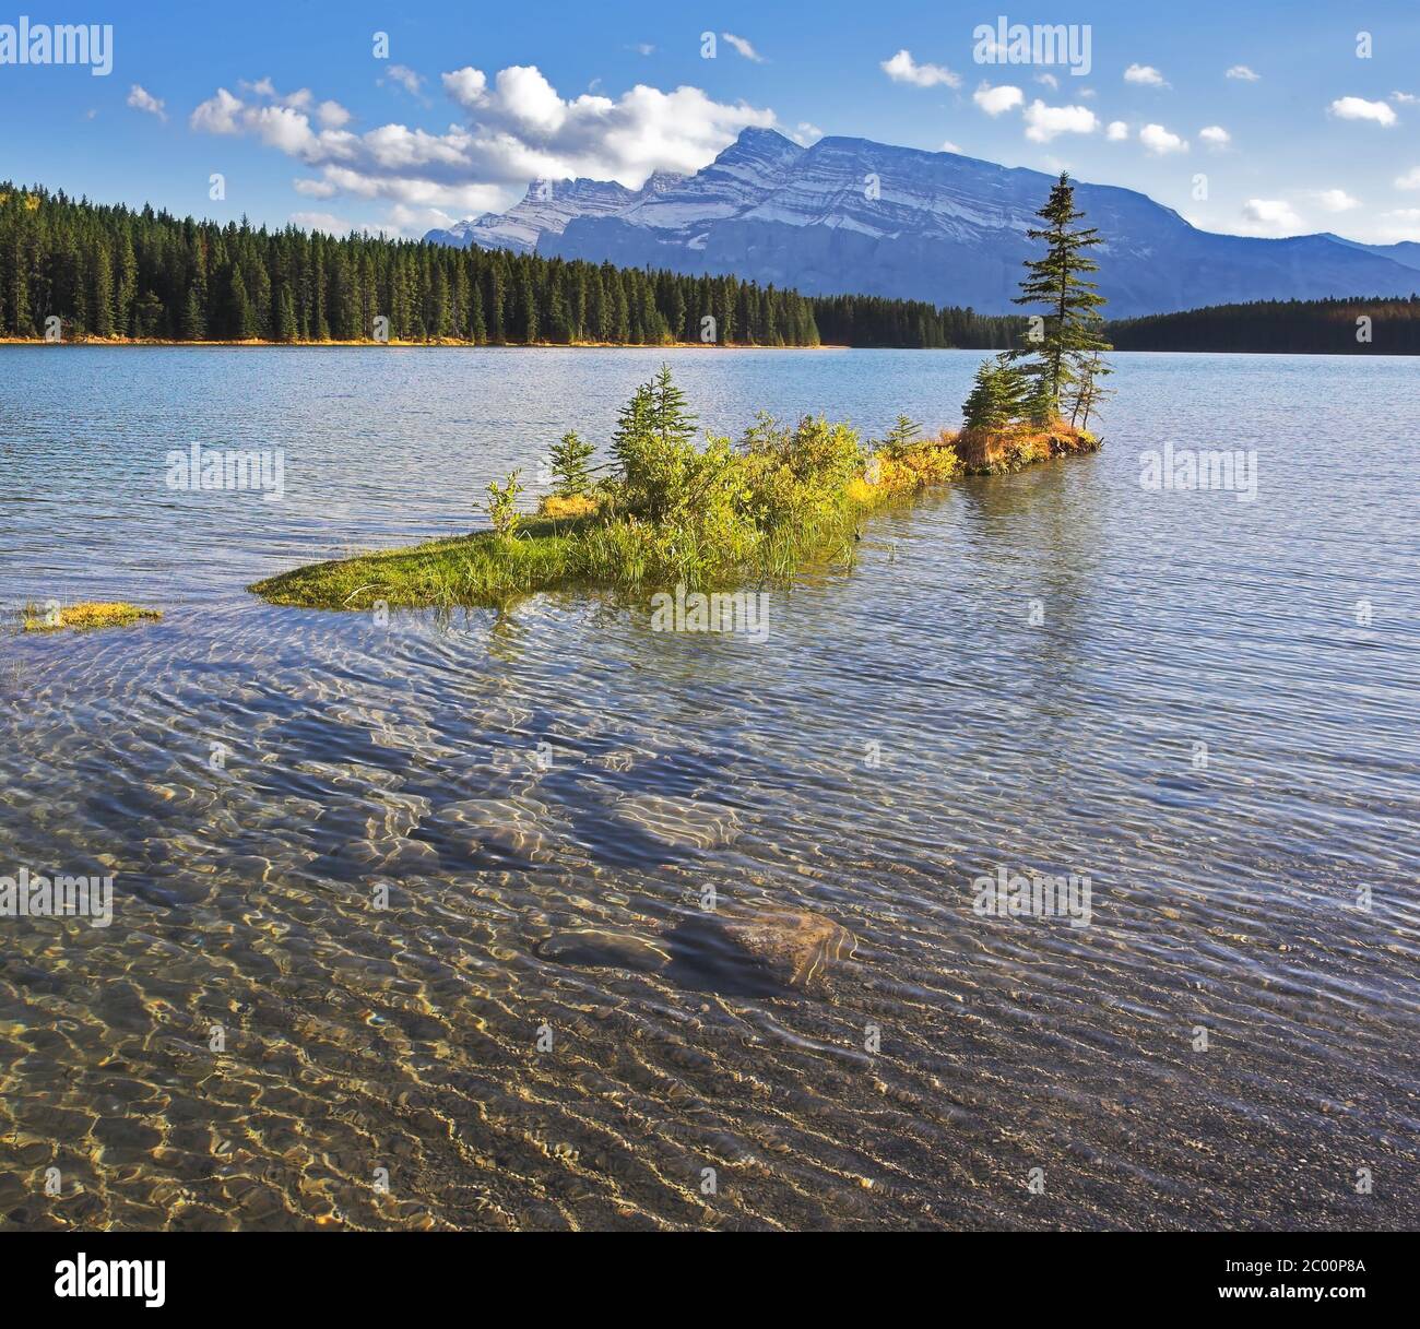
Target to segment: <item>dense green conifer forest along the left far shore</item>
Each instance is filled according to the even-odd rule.
[[[736,277],[334,239],[106,207],[0,185],[0,335],[275,342],[1005,346],[1021,318]],[[714,319],[706,338],[703,319]]]

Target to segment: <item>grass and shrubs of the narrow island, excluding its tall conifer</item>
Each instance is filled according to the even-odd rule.
[[[1005,422],[920,437],[899,419],[863,444],[845,423],[760,419],[740,442],[693,442],[693,417],[662,369],[622,412],[613,474],[568,434],[552,450],[555,490],[535,517],[514,510],[518,474],[490,486],[491,528],[410,549],[312,564],[257,582],[273,603],[321,609],[497,605],[564,588],[642,591],[782,584],[835,558],[876,508],[968,473],[1003,473],[1091,452],[1065,420]]]

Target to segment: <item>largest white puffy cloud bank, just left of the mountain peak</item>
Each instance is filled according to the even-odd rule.
[[[298,109],[257,84],[239,85],[244,97],[219,88],[190,124],[258,139],[304,162],[312,175],[295,187],[307,197],[348,195],[462,216],[507,207],[532,179],[591,176],[635,187],[653,170],[694,172],[746,126],[775,124],[772,111],[716,102],[692,87],[663,92],[638,84],[616,99],[564,99],[532,65],[510,65],[493,80],[453,70],[442,82],[464,116],[442,133],[400,124],[355,133],[338,104],[311,98],[311,109]],[[818,131],[805,122],[798,136],[807,142]]]

